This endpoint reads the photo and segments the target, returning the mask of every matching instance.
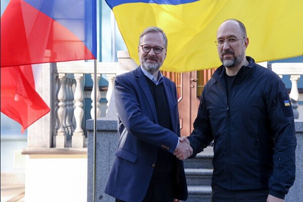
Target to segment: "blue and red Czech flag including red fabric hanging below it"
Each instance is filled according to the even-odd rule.
[[[96,59],[94,0],[11,0],[1,17],[1,112],[25,129],[49,112],[33,64]]]

